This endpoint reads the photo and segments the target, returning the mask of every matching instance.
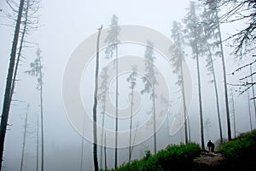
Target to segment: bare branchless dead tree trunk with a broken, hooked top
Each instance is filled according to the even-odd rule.
[[[96,76],[95,76],[95,93],[94,93],[94,105],[93,105],[93,162],[95,171],[99,170],[97,159],[97,130],[96,130],[96,108],[97,108],[97,93],[98,93],[98,73],[99,73],[99,44],[102,27],[98,29],[98,37],[96,44]]]

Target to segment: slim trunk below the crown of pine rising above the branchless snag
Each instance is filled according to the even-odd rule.
[[[119,130],[119,81],[118,81],[118,47],[117,44],[115,46],[115,76],[116,76],[116,94],[115,94],[115,149],[114,149],[114,168],[117,169],[117,158],[118,158],[118,130]]]

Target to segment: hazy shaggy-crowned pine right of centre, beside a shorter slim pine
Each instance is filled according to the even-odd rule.
[[[154,120],[154,154],[156,154],[155,98],[157,98],[157,96],[156,94],[154,94],[154,88],[158,84],[158,82],[156,79],[157,72],[154,70],[154,62],[156,60],[154,56],[154,44],[150,41],[147,42],[144,58],[145,58],[144,64],[145,64],[146,74],[143,77],[144,88],[141,91],[141,93],[150,94],[150,99],[153,101],[151,112],[153,114],[153,120]]]

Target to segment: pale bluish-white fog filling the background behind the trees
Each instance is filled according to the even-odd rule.
[[[36,50],[39,47],[42,50],[43,58],[43,72],[44,72],[44,170],[80,170],[81,154],[83,153],[83,170],[94,170],[93,167],[93,151],[92,151],[92,106],[94,95],[94,81],[95,81],[95,61],[96,61],[96,37],[97,29],[102,25],[102,40],[100,56],[104,56],[104,37],[108,33],[108,29],[113,14],[119,17],[119,26],[125,29],[126,26],[142,26],[146,31],[152,31],[156,36],[161,35],[162,39],[155,40],[162,41],[165,38],[171,39],[172,22],[174,20],[182,21],[184,15],[187,13],[186,8],[189,7],[189,0],[179,1],[119,1],[119,0],[96,0],[96,1],[61,1],[61,0],[43,0],[40,4],[38,31],[32,31],[30,35],[26,36],[26,41],[29,47],[23,48],[23,56],[19,71],[18,81],[15,86],[15,94],[9,113],[9,127],[5,137],[4,153],[3,153],[3,170],[14,171],[20,169],[22,141],[25,127],[25,116],[28,108],[28,125],[26,131],[26,145],[23,162],[23,170],[36,170],[37,162],[37,132],[38,132],[38,116],[40,115],[40,99],[37,87],[36,77],[29,76],[24,73],[30,69],[30,63],[36,58]],[[0,46],[0,108],[3,109],[3,96],[6,83],[7,72],[9,68],[9,54],[14,35],[14,24],[12,21],[4,17],[4,13],[10,13],[11,10],[5,1],[0,2],[0,37],[2,40]],[[222,36],[224,39],[229,37],[237,29],[241,28],[244,23],[226,24],[221,26]],[[12,25],[12,26],[6,26]],[[141,27],[139,27],[141,28]],[[122,31],[122,30],[121,30]],[[137,30],[138,31],[138,30]],[[139,32],[139,31],[138,31]],[[133,32],[131,32],[133,33]],[[139,32],[141,33],[141,32]],[[137,37],[140,37],[139,33]],[[146,34],[146,33],[145,33]],[[154,38],[155,35],[147,35],[146,37]],[[143,66],[143,55],[146,48],[145,43],[137,43],[135,40],[130,40],[132,35],[124,35],[122,40],[127,39],[124,43],[119,45],[119,150],[118,150],[118,165],[128,162],[128,145],[129,145],[129,128],[130,128],[130,107],[131,107],[131,88],[126,82],[126,77],[131,74],[131,69],[125,68],[129,65],[137,64]],[[143,36],[142,36],[143,37]],[[91,38],[91,41],[90,41]],[[86,43],[90,42],[90,49],[86,48]],[[134,42],[133,42],[134,41]],[[133,43],[132,43],[133,42]],[[172,41],[171,41],[172,42]],[[36,45],[36,44],[38,45]],[[177,82],[177,75],[172,73],[172,66],[165,59],[165,52],[160,51],[161,47],[166,48],[167,45],[163,42],[160,47],[155,44],[156,56],[155,69],[158,72],[157,78],[159,81],[158,91],[163,94],[164,98],[168,98],[167,105],[161,101],[160,94],[158,94],[157,110],[157,150],[166,148],[169,144],[184,143],[183,123],[178,123],[181,116],[181,91],[175,84]],[[239,78],[249,73],[245,69],[239,73],[232,75],[231,73],[239,66],[253,61],[253,58],[248,57],[245,60],[235,60],[230,54],[232,49],[224,43],[224,56],[227,71],[228,83],[239,83]],[[106,48],[106,46],[105,46]],[[80,50],[80,51],[79,51]],[[196,63],[191,58],[191,49],[184,49],[187,68],[185,84],[186,96],[189,111],[189,125],[190,125],[190,140],[198,144],[201,143],[200,134],[200,116],[198,104],[198,88],[196,76]],[[71,65],[73,56],[81,52],[91,53],[91,58],[88,63],[77,63],[71,66],[73,72],[68,72],[67,66]],[[80,54],[79,54],[80,55]],[[101,58],[101,59],[102,59]],[[127,59],[130,60],[127,60]],[[136,58],[136,60],[131,60]],[[123,59],[123,60],[122,60]],[[130,63],[131,62],[131,63]],[[133,63],[134,62],[134,63]],[[221,122],[223,128],[224,139],[227,139],[227,125],[226,112],[224,104],[224,80],[223,69],[220,58],[215,59],[215,71],[218,83],[219,104],[221,112]],[[84,66],[83,66],[84,65]],[[102,59],[100,63],[100,74],[102,68],[108,66],[109,70],[109,91],[108,91],[108,117],[105,120],[105,128],[107,132],[107,157],[108,168],[114,167],[114,106],[115,103],[115,75],[114,73],[114,59]],[[123,65],[123,66],[122,66]],[[213,83],[210,83],[212,75],[208,74],[206,61],[204,58],[200,59],[201,65],[201,95],[202,95],[202,113],[205,123],[204,133],[205,142],[212,140],[216,142],[219,140],[218,132],[218,117],[216,111],[215,94]],[[81,66],[81,72],[79,70]],[[255,66],[253,66],[253,69]],[[76,73],[80,73],[78,78],[79,89],[74,90],[67,78],[76,77]],[[112,73],[112,74],[111,74]],[[139,68],[139,75],[145,75],[144,68]],[[102,80],[100,80],[101,83]],[[166,84],[164,84],[166,83]],[[65,86],[67,87],[65,89]],[[69,87],[70,86],[70,87]],[[165,87],[166,86],[166,87]],[[64,87],[64,88],[63,88]],[[248,116],[248,98],[247,92],[239,94],[237,90],[239,87],[228,86],[230,92],[233,93],[234,105],[230,97],[230,122],[232,138],[235,136],[250,131],[249,116]],[[152,123],[150,123],[150,114],[148,111],[152,105],[149,94],[140,94],[143,89],[143,81],[137,78],[137,87],[135,88],[135,103],[133,133],[134,149],[132,151],[131,159],[142,158],[144,152],[154,151],[154,137]],[[64,93],[63,93],[64,92]],[[73,92],[79,93],[79,97],[73,97]],[[230,94],[230,93],[229,93]],[[252,92],[250,91],[252,97]],[[77,98],[75,100],[70,99]],[[82,110],[75,108],[78,105],[77,101],[81,102]],[[67,104],[70,103],[70,104]],[[102,103],[99,103],[102,105]],[[83,107],[82,107],[83,106]],[[73,108],[74,107],[74,108]],[[70,110],[75,110],[72,113]],[[255,113],[253,103],[251,101],[252,123],[253,128],[256,128]],[[98,109],[97,121],[102,124],[102,108]],[[235,111],[235,112],[233,112]],[[83,118],[84,113],[87,113],[87,120],[85,119],[85,133],[83,133]],[[79,117],[73,117],[77,113]],[[236,134],[234,133],[234,115],[236,117]],[[206,124],[207,120],[209,124]],[[40,126],[40,124],[39,124]],[[98,127],[101,128],[101,127]],[[137,131],[136,131],[137,130]],[[84,134],[84,151],[82,151],[83,135]],[[40,140],[39,135],[39,140]],[[98,143],[101,143],[101,130],[98,130]],[[40,145],[39,145],[40,146]],[[39,148],[39,158],[41,149]],[[98,147],[98,161],[100,161],[101,146]],[[40,166],[40,161],[39,161]]]

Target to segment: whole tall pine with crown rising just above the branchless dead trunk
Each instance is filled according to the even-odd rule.
[[[116,71],[116,95],[115,95],[115,151],[114,151],[114,168],[117,168],[117,159],[118,159],[118,110],[119,110],[119,81],[118,81],[118,44],[119,44],[119,31],[118,26],[118,16],[113,14],[110,30],[108,32],[108,37],[105,40],[105,43],[108,43],[108,47],[105,50],[106,58],[111,59],[115,51],[115,71]]]

